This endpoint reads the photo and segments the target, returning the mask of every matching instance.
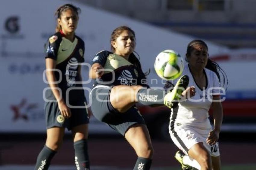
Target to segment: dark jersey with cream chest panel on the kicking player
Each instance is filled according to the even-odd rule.
[[[92,59],[92,64],[94,63],[99,63],[104,67],[104,74],[99,80],[95,80],[94,86],[103,84],[107,86],[141,85],[149,87],[142,70],[136,68],[122,56],[104,50],[97,53]]]

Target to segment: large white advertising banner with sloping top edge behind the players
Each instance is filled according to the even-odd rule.
[[[1,132],[45,132],[42,91],[47,85],[42,80],[45,68],[44,43],[55,32],[55,10],[71,1],[61,0],[3,0],[0,6],[0,96]],[[72,1],[73,3],[73,1]],[[73,3],[81,8],[76,34],[85,41],[85,60],[101,50],[110,49],[110,35],[114,28],[130,26],[136,33],[136,51],[148,76],[161,82],[153,65],[157,54],[173,49],[185,56],[186,45],[192,37],[180,35],[145,23],[105,11]],[[208,42],[211,55],[229,50]],[[83,70],[83,79],[88,70]],[[91,84],[85,85],[91,87]],[[151,84],[151,86],[157,86]],[[158,86],[162,86],[159,85]],[[88,99],[88,95],[87,99]],[[111,128],[91,120],[91,132],[113,132]],[[99,124],[98,124],[99,123]]]

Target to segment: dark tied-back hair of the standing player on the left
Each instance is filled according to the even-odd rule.
[[[56,29],[55,29],[56,32],[59,32],[61,30],[61,26],[58,23],[58,19],[61,19],[61,13],[66,11],[67,9],[73,10],[76,13],[77,16],[81,12],[80,8],[78,8],[78,7],[76,7],[72,4],[64,4],[64,5],[60,6],[55,12],[55,16],[56,16],[56,19],[57,19],[57,26],[56,26]]]

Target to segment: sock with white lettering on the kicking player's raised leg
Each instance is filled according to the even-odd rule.
[[[142,88],[137,93],[137,100],[142,105],[164,105],[165,94],[162,89]]]

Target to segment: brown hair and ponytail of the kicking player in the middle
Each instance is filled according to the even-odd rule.
[[[135,32],[128,26],[119,26],[117,27],[116,29],[114,29],[114,31],[112,32],[111,34],[111,38],[110,38],[110,44],[111,44],[111,41],[116,41],[116,39],[122,34],[123,31],[129,31],[131,32],[133,35],[134,35],[134,38],[135,38]],[[135,38],[136,39],[136,38]],[[115,48],[111,45],[111,50],[115,53]],[[133,53],[130,54],[129,56],[129,62],[131,62],[133,65],[135,65],[136,68],[138,68],[140,71],[142,71],[142,68],[141,68],[141,64],[139,62],[139,59],[136,57],[136,55],[139,57],[139,54],[136,53],[136,55],[134,54],[136,53],[135,51]],[[150,70],[147,71],[145,74],[148,75],[150,73]]]

